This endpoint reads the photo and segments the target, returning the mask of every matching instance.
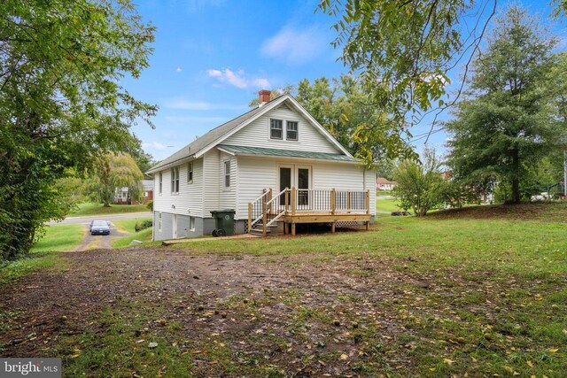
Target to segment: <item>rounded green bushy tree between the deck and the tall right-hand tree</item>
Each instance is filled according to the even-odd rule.
[[[416,216],[427,214],[446,200],[446,181],[441,178],[441,162],[435,150],[425,149],[423,163],[416,159],[403,159],[393,170],[398,185],[393,190],[400,199],[402,209],[411,208]]]

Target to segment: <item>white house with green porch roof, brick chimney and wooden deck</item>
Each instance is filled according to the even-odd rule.
[[[269,94],[261,90],[257,108],[148,171],[154,240],[210,235],[211,212],[220,210],[234,212],[229,234],[256,229],[266,235],[277,224],[295,234],[297,223],[329,223],[334,231],[345,222],[368,227],[374,220],[374,172],[292,96],[269,101]]]

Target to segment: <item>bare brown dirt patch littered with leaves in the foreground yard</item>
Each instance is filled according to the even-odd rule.
[[[177,356],[173,366],[163,363],[165,376],[183,361],[196,376],[264,376],[272,368],[274,376],[352,375],[355,364],[377,358],[373,340],[393,343],[404,332],[384,301],[401,295],[402,282],[423,284],[361,257],[191,256],[170,247],[64,259],[0,288],[12,313],[0,354],[62,356],[69,376],[151,376],[148,354],[138,353],[151,340]],[[116,332],[123,351],[113,349]],[[111,354],[92,365],[91,353],[101,359],[105,350]],[[121,353],[128,361],[116,361]],[[411,366],[405,353],[389,361]]]

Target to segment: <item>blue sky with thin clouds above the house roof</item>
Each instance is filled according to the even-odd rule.
[[[146,152],[167,158],[198,135],[249,110],[260,89],[307,78],[338,77],[334,19],[314,12],[317,1],[139,0],[137,10],[158,28],[150,68],[125,79],[136,98],[159,105],[155,129],[134,132]],[[537,0],[534,12],[547,12]],[[564,29],[564,26],[563,26]],[[455,71],[454,75],[458,75]],[[413,130],[420,135],[428,120]],[[447,135],[431,135],[442,149]],[[418,150],[423,141],[417,144]]]

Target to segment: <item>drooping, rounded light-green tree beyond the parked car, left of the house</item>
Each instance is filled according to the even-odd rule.
[[[128,188],[128,196],[137,201],[143,191],[141,188],[144,174],[136,161],[126,153],[105,154],[99,159],[96,173],[89,180],[90,197],[105,205],[113,202],[117,188]]]

